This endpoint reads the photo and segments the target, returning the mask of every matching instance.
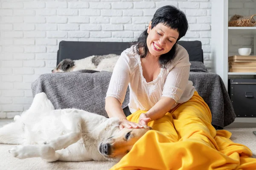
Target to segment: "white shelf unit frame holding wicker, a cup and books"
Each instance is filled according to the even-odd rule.
[[[251,1],[255,2],[255,0]],[[243,0],[241,0],[240,2],[243,2]],[[233,1],[230,3],[233,3]],[[212,1],[212,71],[220,75],[225,84],[226,89],[228,88],[227,85],[229,75],[256,75],[256,73],[228,72],[229,34],[254,35],[253,52],[254,55],[256,55],[256,27],[229,27],[228,10],[229,0]]]

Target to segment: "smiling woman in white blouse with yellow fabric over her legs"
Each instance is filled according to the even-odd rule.
[[[249,148],[233,143],[226,130],[216,132],[208,105],[188,80],[189,55],[177,44],[187,29],[182,11],[163,6],[119,57],[105,99],[108,116],[121,120],[120,129],[149,125],[153,130],[112,170],[256,169]],[[132,114],[126,118],[121,105],[128,85]]]

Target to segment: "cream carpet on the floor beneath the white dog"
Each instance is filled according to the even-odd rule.
[[[1,127],[1,126],[0,126]],[[256,136],[253,128],[226,128],[232,133],[231,139],[249,147],[256,158]],[[16,159],[8,152],[14,145],[0,144],[0,170],[109,170],[115,162],[87,161],[87,162],[45,162],[40,158]]]

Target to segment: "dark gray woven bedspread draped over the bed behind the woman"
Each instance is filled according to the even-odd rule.
[[[189,80],[209,105],[212,125],[216,129],[230,125],[236,115],[221,77],[208,73],[201,62],[191,63]],[[77,108],[107,117],[105,95],[111,75],[111,72],[91,70],[43,74],[32,83],[32,94],[46,93],[55,109]],[[126,108],[128,102],[129,88],[122,108]]]

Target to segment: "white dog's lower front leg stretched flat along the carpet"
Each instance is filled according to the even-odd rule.
[[[41,157],[47,162],[57,161],[60,154],[55,152],[55,150],[49,144],[43,145],[20,145],[9,150],[15,158],[26,159],[33,157]]]

